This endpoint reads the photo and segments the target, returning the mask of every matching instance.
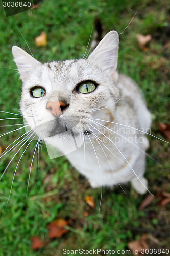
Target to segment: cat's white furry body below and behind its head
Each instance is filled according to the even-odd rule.
[[[120,95],[122,95],[124,99],[117,102],[114,117],[112,113],[108,113],[107,120],[147,131],[151,125],[151,116],[139,94],[137,85],[129,77],[119,75],[117,88],[120,89]],[[133,95],[130,92],[133,92]],[[100,114],[98,113],[98,117],[94,118],[101,119]],[[145,150],[149,147],[148,139],[144,134],[138,132],[138,130],[128,128],[127,126],[98,120],[94,121],[100,122],[110,129],[104,129],[102,126],[102,133],[104,135],[98,133],[100,140],[104,142],[105,146],[110,150],[108,151],[102,142],[99,141],[107,157],[99,145],[99,142],[93,139],[93,148],[87,137],[89,143],[86,144],[87,148],[85,148],[85,163],[82,158],[82,156],[84,157],[84,145],[82,145],[78,148],[77,152],[71,152],[67,155],[71,164],[89,179],[92,187],[100,187],[101,184],[103,186],[113,186],[117,183],[122,184],[132,181],[136,184],[133,184],[135,189],[139,193],[144,193],[145,187],[142,183],[147,186],[147,182],[142,177],[145,170]],[[92,123],[92,125],[95,126],[95,123]],[[115,131],[115,133],[111,130]],[[120,136],[118,134],[120,134]],[[121,137],[121,135],[123,137]],[[98,159],[96,158],[94,149]],[[134,175],[130,166],[142,183],[136,175]]]

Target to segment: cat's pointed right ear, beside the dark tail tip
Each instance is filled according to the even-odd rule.
[[[98,63],[101,69],[112,74],[117,68],[118,42],[118,33],[110,31],[100,41],[88,59],[93,63]]]

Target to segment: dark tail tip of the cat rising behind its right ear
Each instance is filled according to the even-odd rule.
[[[99,42],[103,38],[103,26],[99,18],[94,19],[94,39],[91,43],[91,52],[98,46]]]

